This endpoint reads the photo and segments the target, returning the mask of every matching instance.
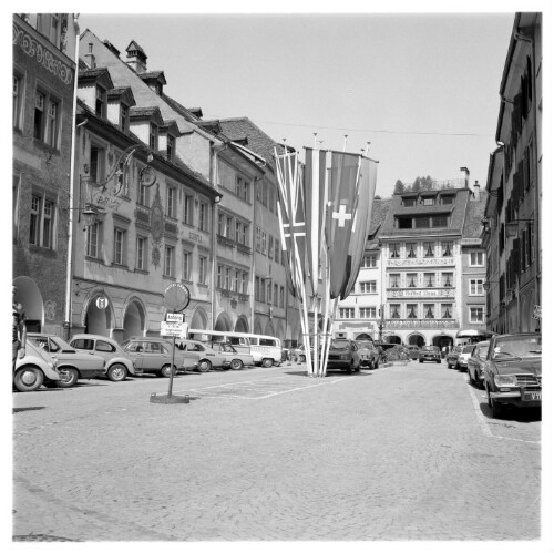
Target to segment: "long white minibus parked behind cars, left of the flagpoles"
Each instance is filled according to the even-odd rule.
[[[225,341],[232,344],[237,351],[250,354],[254,365],[261,367],[278,366],[281,362],[283,347],[279,338],[233,330],[206,330],[189,328],[188,338],[203,342]]]

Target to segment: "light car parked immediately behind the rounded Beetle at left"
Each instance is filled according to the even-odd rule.
[[[55,335],[28,332],[27,338],[42,348],[58,361],[58,371],[61,380],[60,388],[71,388],[79,379],[91,379],[105,375],[105,359],[92,351],[84,354],[71,347],[65,340]]]

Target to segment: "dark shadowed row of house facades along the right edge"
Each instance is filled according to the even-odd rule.
[[[491,258],[486,321],[499,332],[533,332],[542,304],[541,13],[516,13],[500,95],[482,240]]]

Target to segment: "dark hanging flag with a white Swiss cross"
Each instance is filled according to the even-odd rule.
[[[326,214],[326,240],[329,256],[330,298],[338,298],[347,275],[348,247],[358,201],[359,154],[331,153]]]

